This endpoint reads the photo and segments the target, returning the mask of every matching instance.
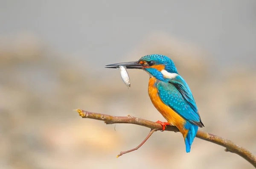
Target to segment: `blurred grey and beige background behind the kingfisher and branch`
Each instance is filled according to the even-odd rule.
[[[105,125],[76,108],[151,121],[148,74],[105,65],[164,54],[205,127],[256,154],[255,0],[0,0],[0,169],[250,169],[224,147]],[[114,130],[114,127],[116,130]]]

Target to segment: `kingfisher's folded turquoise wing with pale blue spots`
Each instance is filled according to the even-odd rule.
[[[169,82],[158,82],[157,91],[160,99],[185,120],[203,127],[192,93],[181,76]]]

